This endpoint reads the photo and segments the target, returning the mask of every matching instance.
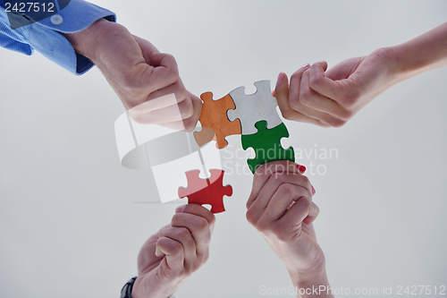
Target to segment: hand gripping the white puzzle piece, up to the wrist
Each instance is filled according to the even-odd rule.
[[[324,127],[340,127],[384,90],[399,81],[392,72],[392,50],[350,58],[326,72],[327,64],[304,65],[291,75],[280,73],[274,90],[283,117]]]

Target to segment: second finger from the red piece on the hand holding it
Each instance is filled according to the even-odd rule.
[[[209,243],[211,241],[211,228],[205,217],[199,217],[190,213],[176,213],[171,222],[172,226],[184,226],[190,231],[192,240],[194,241],[194,256],[187,254],[186,260],[194,263],[197,260],[207,258]]]

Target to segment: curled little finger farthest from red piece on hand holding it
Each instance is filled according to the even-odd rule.
[[[183,270],[185,255],[181,243],[168,237],[162,237],[156,242],[156,250],[164,253],[164,260],[168,270],[174,272]]]

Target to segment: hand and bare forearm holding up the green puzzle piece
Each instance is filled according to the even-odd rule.
[[[313,187],[297,165],[276,161],[259,166],[247,201],[247,220],[266,239],[287,268],[298,297],[333,297],[327,292],[299,294],[299,289],[329,288],[325,255],[312,222],[319,209]]]

